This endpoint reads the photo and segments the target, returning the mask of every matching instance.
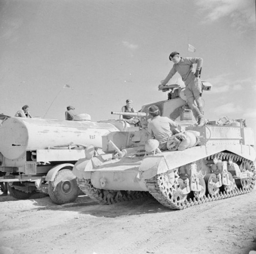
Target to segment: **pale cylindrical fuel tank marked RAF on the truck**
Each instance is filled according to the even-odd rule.
[[[70,142],[101,148],[101,136],[118,130],[110,123],[8,118],[0,126],[0,153],[7,159],[18,159],[26,150],[46,149]]]

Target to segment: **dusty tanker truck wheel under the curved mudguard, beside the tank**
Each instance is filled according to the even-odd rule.
[[[77,198],[79,190],[76,177],[70,169],[60,170],[48,186],[51,199],[58,205],[73,202]]]

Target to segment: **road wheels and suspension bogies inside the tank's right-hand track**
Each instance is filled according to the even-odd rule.
[[[182,165],[178,168],[180,191],[190,197],[202,198],[225,195],[235,190],[248,190],[255,181],[253,163],[233,154],[217,154],[209,159]]]

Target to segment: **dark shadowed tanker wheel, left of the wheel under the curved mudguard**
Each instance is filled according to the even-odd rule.
[[[7,184],[7,189],[10,195],[18,199],[27,199],[35,192],[35,188],[27,187],[19,182],[14,182],[12,185]]]

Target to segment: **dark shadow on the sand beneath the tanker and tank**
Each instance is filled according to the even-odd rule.
[[[11,206],[17,203],[18,210],[63,210],[76,211],[79,214],[88,214],[95,217],[115,218],[120,216],[140,215],[150,213],[165,213],[174,212],[162,206],[153,197],[143,197],[135,200],[124,201],[112,205],[98,204],[87,195],[78,196],[73,203],[57,205],[51,198],[43,193],[35,193],[29,199],[21,200],[12,197],[11,195],[1,196],[0,203],[8,201]],[[24,203],[24,204],[23,204]],[[10,207],[11,207],[10,206]]]

